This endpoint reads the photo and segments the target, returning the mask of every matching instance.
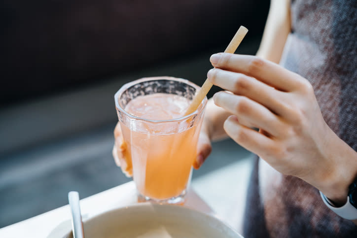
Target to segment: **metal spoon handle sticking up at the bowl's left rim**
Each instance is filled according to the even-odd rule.
[[[68,202],[70,203],[72,213],[72,232],[73,238],[84,238],[82,216],[79,207],[79,194],[76,191],[68,193]]]

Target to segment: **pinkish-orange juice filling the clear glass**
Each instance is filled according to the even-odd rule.
[[[125,111],[149,120],[171,120],[182,117],[189,104],[184,97],[157,93],[133,99]],[[137,124],[135,130],[130,130],[121,123],[121,129],[126,143],[126,159],[132,162],[139,192],[156,200],[179,196],[186,189],[196,158],[201,123],[143,120]]]

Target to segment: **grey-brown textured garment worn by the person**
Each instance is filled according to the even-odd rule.
[[[313,85],[328,126],[357,150],[357,0],[292,0],[281,65]],[[323,166],[323,165],[321,165]],[[257,159],[244,220],[250,237],[354,237],[319,191]]]

